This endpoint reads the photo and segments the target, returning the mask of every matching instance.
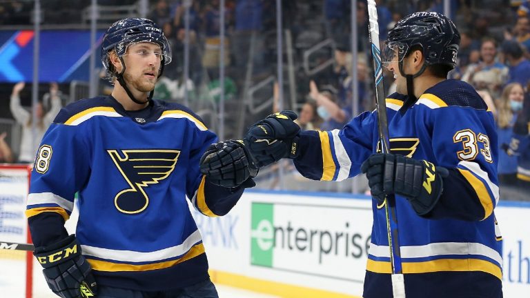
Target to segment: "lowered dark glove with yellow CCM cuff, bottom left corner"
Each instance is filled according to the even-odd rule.
[[[90,264],[81,255],[75,235],[52,246],[35,248],[33,255],[43,266],[42,272],[55,295],[63,298],[88,298],[97,294],[97,284]]]

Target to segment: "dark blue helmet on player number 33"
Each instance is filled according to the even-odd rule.
[[[413,46],[422,47],[426,64],[444,64],[455,68],[460,33],[444,14],[414,12],[398,21],[390,30],[383,52],[390,52],[392,56],[397,50],[397,59],[402,61]],[[388,54],[385,56],[386,62],[391,61]]]

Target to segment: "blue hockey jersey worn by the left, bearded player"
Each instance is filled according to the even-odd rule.
[[[173,290],[208,279],[202,237],[186,197],[224,215],[243,190],[214,186],[199,159],[217,141],[176,103],[126,111],[112,97],[63,108],[37,153],[26,215],[35,246],[67,236],[79,193],[76,236],[99,284]]]

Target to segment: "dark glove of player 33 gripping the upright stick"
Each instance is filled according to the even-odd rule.
[[[370,191],[382,203],[386,195],[406,197],[418,215],[433,210],[443,191],[443,179],[449,170],[424,160],[402,155],[375,154],[361,166]]]

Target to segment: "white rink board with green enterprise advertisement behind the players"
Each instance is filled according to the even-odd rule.
[[[370,242],[366,196],[246,191],[225,217],[193,212],[217,284],[280,297],[361,297]],[[504,297],[530,292],[530,204],[495,208]]]

